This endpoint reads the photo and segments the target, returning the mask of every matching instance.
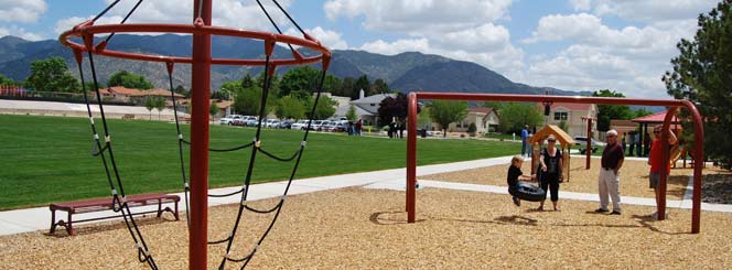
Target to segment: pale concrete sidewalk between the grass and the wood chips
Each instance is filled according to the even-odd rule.
[[[417,168],[417,176],[423,176],[435,173],[446,173],[455,172],[482,166],[492,166],[510,163],[512,156],[502,156],[494,159],[484,159],[484,160],[474,160],[474,161],[464,161],[464,162],[454,162],[445,164],[435,164],[435,165],[424,165]],[[406,186],[406,169],[392,169],[392,170],[381,170],[374,172],[363,172],[363,173],[351,173],[351,174],[341,174],[341,175],[331,175],[331,176],[321,176],[312,179],[302,179],[295,180],[290,186],[288,195],[303,194],[310,192],[327,191],[334,188],[342,188],[348,186],[365,186],[367,188],[388,188],[396,191],[403,191]],[[498,177],[498,176],[497,176]],[[503,175],[500,175],[503,179]],[[263,199],[282,196],[284,188],[287,186],[287,181],[262,183],[251,185],[249,190],[248,199]],[[433,187],[433,188],[450,188],[450,190],[461,190],[461,191],[473,191],[473,192],[487,192],[487,193],[497,193],[497,194],[508,194],[505,186],[495,186],[495,185],[477,185],[477,184],[465,184],[465,183],[451,183],[451,182],[440,182],[440,181],[430,181],[420,179],[420,187]],[[211,194],[225,194],[230,192],[236,192],[240,186],[224,187],[211,190]],[[175,195],[181,196],[181,203],[179,205],[181,209],[181,216],[185,216],[185,199],[183,193],[176,193]],[[568,199],[581,199],[581,201],[594,201],[598,202],[598,195],[591,193],[575,193],[575,192],[561,192],[560,196]],[[222,204],[238,204],[240,201],[240,195],[234,195],[223,198],[209,198],[208,205],[222,205]],[[644,197],[628,197],[623,196],[623,204],[634,204],[634,205],[655,205],[655,199],[644,198]],[[668,207],[676,208],[691,208],[691,187],[687,187],[687,194],[682,201],[668,201]],[[165,205],[171,206],[171,205]],[[714,210],[714,212],[730,212],[732,213],[732,205],[721,205],[721,204],[706,204],[702,203],[703,210]],[[164,207],[164,206],[163,206]],[[154,210],[157,206],[143,206],[132,208],[134,212],[143,210]],[[65,213],[57,213],[58,218],[65,219]],[[101,216],[114,215],[111,210],[107,212],[97,212],[88,214],[78,214],[75,215],[75,219],[86,219]],[[51,226],[51,212],[49,207],[36,207],[36,208],[26,208],[26,209],[17,209],[17,210],[7,210],[0,212],[0,235],[12,235],[34,230],[47,230]]]

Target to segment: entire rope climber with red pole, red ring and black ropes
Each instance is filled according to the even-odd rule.
[[[270,20],[274,29],[277,29],[278,33],[268,33],[268,32],[260,32],[260,31],[249,31],[249,30],[239,30],[239,29],[228,29],[228,28],[222,28],[222,26],[214,26],[212,25],[212,1],[211,0],[194,0],[193,1],[193,19],[192,23],[190,24],[154,24],[154,23],[128,23],[126,24],[125,22],[127,19],[134,12],[134,10],[139,7],[141,1],[138,1],[138,3],[129,11],[129,13],[125,17],[125,19],[119,23],[119,24],[100,24],[100,25],[95,25],[95,22],[101,18],[107,11],[109,11],[111,8],[115,7],[119,1],[115,1],[110,3],[109,7],[107,7],[104,11],[101,11],[98,15],[96,15],[94,19],[88,20],[86,22],[83,22],[78,25],[75,25],[72,30],[68,30],[64,33],[61,34],[58,37],[60,42],[72,48],[74,52],[74,56],[76,60],[76,63],[79,68],[79,74],[82,76],[82,85],[85,85],[84,83],[84,75],[83,75],[83,57],[84,53],[86,53],[88,60],[89,60],[89,65],[92,69],[92,75],[94,79],[94,88],[92,89],[93,91],[96,91],[97,94],[97,100],[99,102],[99,108],[100,108],[100,117],[103,121],[103,127],[104,127],[104,142],[100,140],[100,136],[97,132],[97,128],[94,122],[92,109],[89,106],[89,98],[87,97],[87,90],[84,89],[85,94],[85,100],[87,102],[87,111],[88,111],[88,117],[90,121],[90,127],[92,131],[94,133],[94,142],[95,142],[95,151],[98,151],[94,153],[94,155],[98,155],[101,158],[101,161],[104,163],[105,170],[107,172],[107,180],[109,182],[110,188],[111,188],[111,194],[112,194],[112,202],[114,202],[114,207],[116,212],[120,212],[122,214],[122,217],[125,217],[125,223],[128,226],[128,230],[134,240],[134,245],[138,249],[138,259],[140,262],[146,262],[151,269],[158,269],[152,255],[150,250],[148,249],[148,245],[144,242],[144,239],[142,237],[142,234],[140,233],[137,224],[134,223],[134,219],[132,218],[131,212],[129,210],[129,205],[127,204],[126,199],[126,194],[125,190],[122,187],[122,181],[120,179],[119,172],[117,170],[117,164],[115,162],[114,158],[114,152],[112,152],[112,144],[111,144],[111,138],[109,134],[105,112],[104,112],[104,107],[101,105],[101,98],[99,96],[99,89],[98,87],[98,82],[97,82],[97,76],[96,76],[96,69],[94,65],[94,56],[95,55],[104,55],[104,56],[109,56],[109,57],[117,57],[117,58],[126,58],[126,60],[136,60],[136,61],[146,61],[146,62],[154,62],[154,63],[162,63],[165,65],[168,69],[168,76],[169,76],[169,83],[170,83],[170,88],[171,93],[173,85],[172,85],[172,73],[173,68],[176,64],[191,64],[192,65],[192,114],[191,114],[191,139],[190,141],[184,140],[183,134],[181,133],[180,125],[177,121],[177,116],[175,117],[176,120],[176,128],[177,128],[177,138],[179,138],[179,153],[181,154],[180,160],[181,160],[181,173],[183,177],[183,184],[184,184],[184,190],[187,192],[190,190],[191,192],[191,202],[190,205],[191,207],[186,212],[186,214],[190,213],[189,217],[189,267],[190,269],[206,269],[207,264],[207,245],[217,245],[217,244],[226,244],[226,255],[223,256],[222,263],[219,268],[224,268],[226,261],[234,261],[234,262],[244,262],[244,267],[249,262],[249,260],[252,258],[261,242],[263,241],[265,237],[267,234],[271,230],[272,226],[274,225],[274,222],[277,220],[277,217],[279,216],[280,209],[283,205],[284,197],[287,196],[287,193],[290,187],[290,183],[294,179],[294,175],[298,170],[298,165],[300,163],[300,159],[302,158],[302,153],[304,151],[306,140],[308,140],[308,133],[310,128],[308,128],[304,132],[302,141],[299,143],[299,149],[294,152],[292,156],[289,158],[279,158],[276,156],[267,151],[265,151],[261,148],[261,141],[260,141],[260,130],[261,130],[261,119],[263,119],[263,112],[265,112],[265,106],[266,106],[266,100],[267,100],[267,95],[269,91],[269,86],[271,78],[274,75],[274,72],[277,67],[279,66],[290,66],[290,65],[303,65],[303,64],[320,64],[322,68],[322,74],[320,77],[320,86],[317,88],[317,95],[315,97],[315,101],[313,102],[313,107],[311,110],[311,116],[313,115],[312,112],[314,111],[317,100],[320,98],[320,94],[322,90],[322,84],[325,78],[325,73],[329,68],[329,64],[331,61],[331,52],[324,47],[314,37],[310,36],[306,34],[298,23],[292,20],[290,14],[282,9],[282,7],[277,2],[277,0],[272,0],[272,2],[279,8],[279,10],[287,15],[287,18],[290,20],[290,22],[299,30],[300,33],[302,33],[303,37],[295,37],[295,36],[290,36],[290,35],[284,35],[278,28],[278,25],[274,23],[274,21],[271,19],[270,14],[267,12],[266,8],[261,4],[260,1],[257,1],[259,7],[261,8],[262,12],[267,15],[267,18]],[[189,34],[192,35],[193,40],[193,46],[192,46],[192,56],[186,57],[186,56],[165,56],[165,55],[146,55],[141,53],[129,53],[129,52],[121,52],[121,51],[115,51],[115,50],[109,50],[107,48],[107,45],[109,44],[110,40],[116,33],[176,33],[176,34]],[[106,35],[100,42],[98,42],[97,35]],[[265,58],[263,60],[232,60],[232,58],[213,58],[212,57],[212,35],[220,35],[220,36],[230,36],[230,37],[240,37],[240,39],[249,39],[249,40],[255,40],[255,41],[260,41],[263,45],[263,52],[265,52]],[[83,43],[77,43],[78,40],[82,40]],[[96,42],[96,44],[95,44]],[[273,58],[273,52],[277,46],[277,44],[281,45],[287,45],[291,53],[292,57],[290,58]],[[293,48],[293,46],[300,47],[300,50],[309,50],[313,53],[309,54],[309,56],[303,56],[299,51]],[[261,106],[259,110],[259,125],[257,127],[257,132],[254,138],[254,140],[250,143],[247,143],[241,147],[236,147],[232,149],[225,149],[225,150],[216,150],[216,149],[209,149],[208,148],[208,111],[209,111],[209,106],[211,104],[208,102],[211,98],[211,65],[246,65],[246,66],[262,66],[265,71],[265,82],[262,86],[262,97],[261,97]],[[173,106],[175,106],[174,102],[174,96],[173,98]],[[175,108],[174,108],[175,110]],[[310,126],[310,123],[309,123]],[[186,182],[186,173],[185,173],[185,164],[183,162],[183,150],[182,147],[183,144],[190,144],[191,150],[190,150],[190,179],[191,179],[191,184],[189,186],[189,182]],[[243,187],[230,194],[208,194],[208,152],[214,151],[214,152],[223,152],[223,151],[235,151],[235,150],[240,150],[240,149],[246,149],[246,148],[251,148],[251,158],[249,160],[248,164],[248,170],[245,179],[245,183]],[[262,154],[272,158],[278,161],[282,162],[289,162],[295,160],[295,163],[292,169],[292,173],[290,175],[290,181],[288,182],[288,185],[284,190],[284,194],[282,195],[280,202],[272,208],[269,209],[255,209],[248,206],[247,203],[247,195],[249,192],[249,184],[251,180],[251,174],[254,171],[254,165],[255,165],[255,160],[256,160],[256,154],[258,152],[261,152]],[[111,163],[111,164],[108,164]],[[114,171],[114,172],[112,172]],[[115,181],[116,180],[116,183]],[[119,191],[118,191],[119,190]],[[241,194],[241,199],[239,204],[239,210],[238,215],[236,217],[236,223],[234,224],[234,227],[232,229],[232,233],[229,236],[223,240],[214,240],[209,241],[207,238],[207,208],[208,208],[208,203],[207,199],[208,197],[222,197],[222,196],[230,196],[230,195],[237,195]],[[186,196],[187,201],[187,196]],[[186,202],[187,205],[187,202]],[[257,241],[256,246],[252,248],[252,250],[245,256],[244,258],[235,258],[230,253],[230,249],[233,246],[234,237],[236,236],[238,225],[241,220],[241,214],[243,212],[247,209],[250,212],[255,213],[276,213],[274,217],[272,218],[272,222],[270,223],[269,227],[267,230],[262,234],[262,236],[259,238]]]

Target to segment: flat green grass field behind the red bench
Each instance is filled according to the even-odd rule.
[[[101,132],[101,120],[95,121]],[[189,138],[189,126],[182,127]],[[182,191],[175,125],[110,120],[109,129],[127,194]],[[254,133],[250,128],[213,125],[211,147],[240,145],[250,142]],[[101,161],[90,154],[92,138],[85,118],[0,115],[0,209],[109,195]],[[301,139],[302,131],[263,130],[261,147],[289,156]],[[311,133],[295,179],[403,168],[406,142]],[[419,164],[424,165],[514,154],[520,144],[429,139],[419,140],[418,149]],[[250,154],[250,149],[211,153],[211,187],[240,185]],[[286,180],[293,164],[259,153],[252,182]]]

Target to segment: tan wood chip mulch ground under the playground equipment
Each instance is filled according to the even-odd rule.
[[[582,183],[578,180],[577,183]],[[252,203],[271,206],[276,199]],[[702,213],[701,234],[690,210],[625,205],[623,215],[595,214],[596,203],[567,201],[562,212],[516,207],[508,195],[422,188],[418,222],[406,224],[403,192],[349,187],[290,196],[280,219],[249,263],[251,269],[314,268],[605,268],[730,269],[732,214]],[[228,235],[237,206],[209,210],[209,238]],[[245,215],[233,255],[254,246],[272,215]],[[170,219],[170,217],[168,217]],[[187,268],[185,220],[142,222],[161,269]],[[3,269],[146,269],[119,222],[79,227],[67,237],[35,231],[0,237]],[[218,267],[223,247],[208,250]],[[228,263],[227,269],[240,264]]]

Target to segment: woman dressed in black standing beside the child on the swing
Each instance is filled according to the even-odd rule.
[[[562,152],[557,149],[557,138],[550,134],[547,138],[547,148],[541,150],[539,163],[541,164],[541,180],[539,181],[541,190],[551,192],[551,204],[555,210],[560,210],[557,203],[559,202],[559,180],[563,179],[562,175]],[[546,194],[546,193],[545,193]],[[545,195],[546,201],[546,195]],[[543,210],[543,201],[540,202],[537,210]]]

